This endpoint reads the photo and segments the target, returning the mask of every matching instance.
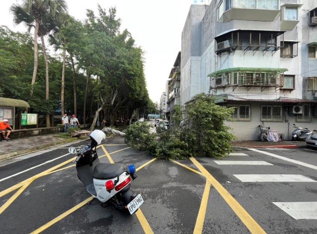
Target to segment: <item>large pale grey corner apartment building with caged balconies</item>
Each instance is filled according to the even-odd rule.
[[[317,0],[212,0],[191,5],[182,31],[180,103],[198,93],[233,107],[239,139],[258,125],[285,139],[317,129]]]

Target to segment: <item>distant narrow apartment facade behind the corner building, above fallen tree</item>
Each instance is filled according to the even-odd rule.
[[[180,105],[180,52],[177,53],[173,68],[170,70],[168,80],[166,82],[167,108],[165,116],[170,120],[170,116],[175,106]]]

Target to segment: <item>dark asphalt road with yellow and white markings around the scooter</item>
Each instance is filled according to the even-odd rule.
[[[119,137],[104,144],[113,161],[125,167],[135,164],[137,168],[153,159],[146,152],[127,148]],[[0,182],[1,234],[31,233],[40,227],[43,233],[65,234],[317,233],[315,150],[236,149],[238,155],[221,162],[211,158],[177,161],[181,164],[154,160],[141,168],[132,182],[131,189],[145,200],[142,214],[132,216],[103,208],[96,200],[76,207],[90,196],[75,167],[68,167],[74,163],[73,155],[67,153],[66,148],[46,150],[0,167],[0,180],[4,179]],[[102,148],[98,155],[105,155]],[[107,162],[108,158],[100,160]],[[35,178],[20,195],[16,194],[19,187],[3,195],[7,188],[63,162],[55,170],[66,169]],[[286,211],[280,208],[281,203]]]

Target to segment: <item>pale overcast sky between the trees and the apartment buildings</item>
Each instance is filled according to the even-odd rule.
[[[136,44],[145,51],[145,76],[149,96],[158,102],[170,69],[181,48],[183,29],[190,4],[208,3],[210,0],[66,0],[68,11],[79,20],[86,17],[86,9],[97,12],[103,8],[117,8],[121,30],[127,28]],[[13,31],[27,31],[25,26],[14,25],[9,7],[20,0],[0,0],[0,25]]]

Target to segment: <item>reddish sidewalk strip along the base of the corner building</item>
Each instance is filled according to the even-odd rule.
[[[243,148],[298,148],[306,146],[305,141],[256,141],[256,140],[234,140],[232,141],[233,147]]]

